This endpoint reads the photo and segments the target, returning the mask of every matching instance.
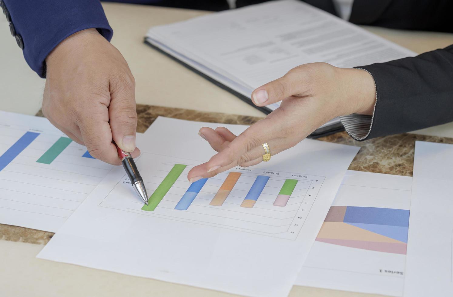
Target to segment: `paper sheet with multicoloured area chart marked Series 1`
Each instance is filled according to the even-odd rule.
[[[348,170],[295,284],[402,296],[411,181]]]

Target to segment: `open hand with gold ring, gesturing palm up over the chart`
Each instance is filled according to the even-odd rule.
[[[295,67],[284,77],[253,91],[252,99],[257,106],[282,101],[265,119],[238,136],[223,127],[200,129],[200,136],[218,153],[192,168],[188,179],[195,182],[235,166],[258,164],[265,153],[261,144],[267,142],[273,156],[298,144],[337,116],[371,115],[375,92],[373,78],[364,70],[337,68],[327,63]]]

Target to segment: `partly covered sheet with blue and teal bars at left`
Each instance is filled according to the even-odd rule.
[[[56,232],[112,168],[43,117],[0,111],[0,223]]]

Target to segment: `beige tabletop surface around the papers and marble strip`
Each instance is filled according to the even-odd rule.
[[[112,43],[129,63],[136,79],[137,103],[201,111],[263,114],[143,43],[147,29],[206,12],[104,3],[115,34]],[[410,32],[365,27],[417,53],[453,43],[453,34]],[[24,61],[22,51],[0,17],[0,98],[2,110],[34,115],[40,107],[44,80]],[[453,137],[453,125],[417,131]],[[92,268],[36,259],[41,244],[1,240],[0,296],[231,296],[230,294],[125,276]],[[294,286],[290,296],[376,296]]]

